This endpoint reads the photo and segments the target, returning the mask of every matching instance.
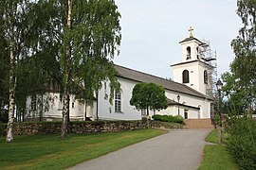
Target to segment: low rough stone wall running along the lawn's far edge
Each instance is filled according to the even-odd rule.
[[[151,121],[151,127],[156,128],[183,128],[183,125]],[[14,124],[13,135],[36,135],[61,133],[62,122],[25,122]],[[7,125],[0,126],[0,135],[6,135]],[[79,134],[108,133],[147,128],[146,121],[91,121],[71,122],[70,132]]]

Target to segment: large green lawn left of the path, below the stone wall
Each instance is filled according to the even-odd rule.
[[[165,132],[155,129],[94,135],[15,136],[7,144],[0,138],[0,169],[64,169]]]

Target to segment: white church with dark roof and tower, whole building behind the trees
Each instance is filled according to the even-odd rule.
[[[101,89],[95,100],[78,101],[71,96],[71,120],[139,120],[145,116],[145,110],[136,110],[130,105],[133,88],[139,82],[161,85],[165,89],[168,100],[166,110],[151,110],[150,115],[167,114],[181,115],[185,119],[210,119],[212,99],[212,80],[210,73],[213,67],[201,55],[205,45],[191,35],[180,42],[182,48],[181,62],[171,65],[174,70],[174,80],[138,72],[130,68],[115,65],[121,92],[115,93],[113,104],[105,99],[109,89]],[[49,99],[47,107],[40,105],[39,100]],[[60,93],[50,92],[44,95],[27,97],[27,120],[57,121],[62,119],[63,103]],[[41,110],[40,110],[41,108]],[[44,109],[46,108],[46,109]]]

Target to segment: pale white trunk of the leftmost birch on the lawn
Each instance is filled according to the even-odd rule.
[[[13,141],[12,128],[13,128],[13,119],[14,119],[14,90],[16,85],[16,80],[14,76],[14,56],[13,56],[13,46],[9,45],[9,61],[10,61],[10,69],[9,69],[9,121],[7,127],[7,138],[6,141],[8,143]]]

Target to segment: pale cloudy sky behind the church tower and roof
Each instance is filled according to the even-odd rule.
[[[181,62],[179,42],[210,41],[218,77],[234,59],[230,42],[242,26],[236,0],[116,0],[121,14],[120,54],[116,64],[154,76],[173,78],[170,65]]]

